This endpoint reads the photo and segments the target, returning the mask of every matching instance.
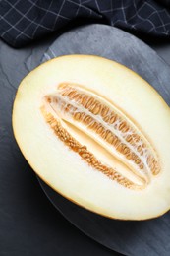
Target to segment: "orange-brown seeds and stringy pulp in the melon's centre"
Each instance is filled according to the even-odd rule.
[[[45,105],[48,107],[45,108]],[[57,118],[49,113],[49,106]],[[160,172],[157,154],[141,129],[114,103],[105,98],[79,85],[63,83],[57,87],[54,94],[43,98],[43,109],[46,122],[60,140],[77,152],[89,165],[119,184],[127,188],[139,188],[137,184],[123,177],[119,170],[116,171],[97,160],[97,156],[88,152],[85,146],[62,127],[62,122],[66,121],[76,126],[114,158],[123,162],[128,171],[141,178],[141,188],[148,185],[152,177]]]

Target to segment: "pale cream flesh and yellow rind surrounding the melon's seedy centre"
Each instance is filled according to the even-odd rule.
[[[42,115],[42,98],[63,82],[83,85],[113,102],[140,127],[160,164],[160,173],[144,189],[129,189],[109,179],[55,136]],[[120,220],[151,219],[170,209],[170,109],[146,81],[123,65],[91,55],[62,56],[40,65],[19,86],[13,130],[35,173],[85,209]],[[114,160],[110,162],[114,168]]]

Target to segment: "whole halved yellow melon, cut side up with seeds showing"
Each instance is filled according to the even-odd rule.
[[[170,208],[170,109],[140,76],[97,56],[50,60],[22,81],[13,109],[30,166],[66,198],[106,217]]]

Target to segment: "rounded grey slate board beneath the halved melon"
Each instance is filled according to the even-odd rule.
[[[104,25],[82,27],[60,36],[42,61],[74,53],[95,54],[126,65],[170,105],[170,67],[135,36]],[[170,255],[170,213],[142,222],[109,220],[78,207],[39,182],[49,200],[72,224],[103,245],[125,255]]]

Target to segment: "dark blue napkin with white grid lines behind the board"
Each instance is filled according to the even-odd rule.
[[[170,38],[170,0],[1,0],[0,36],[14,47],[72,22]]]

